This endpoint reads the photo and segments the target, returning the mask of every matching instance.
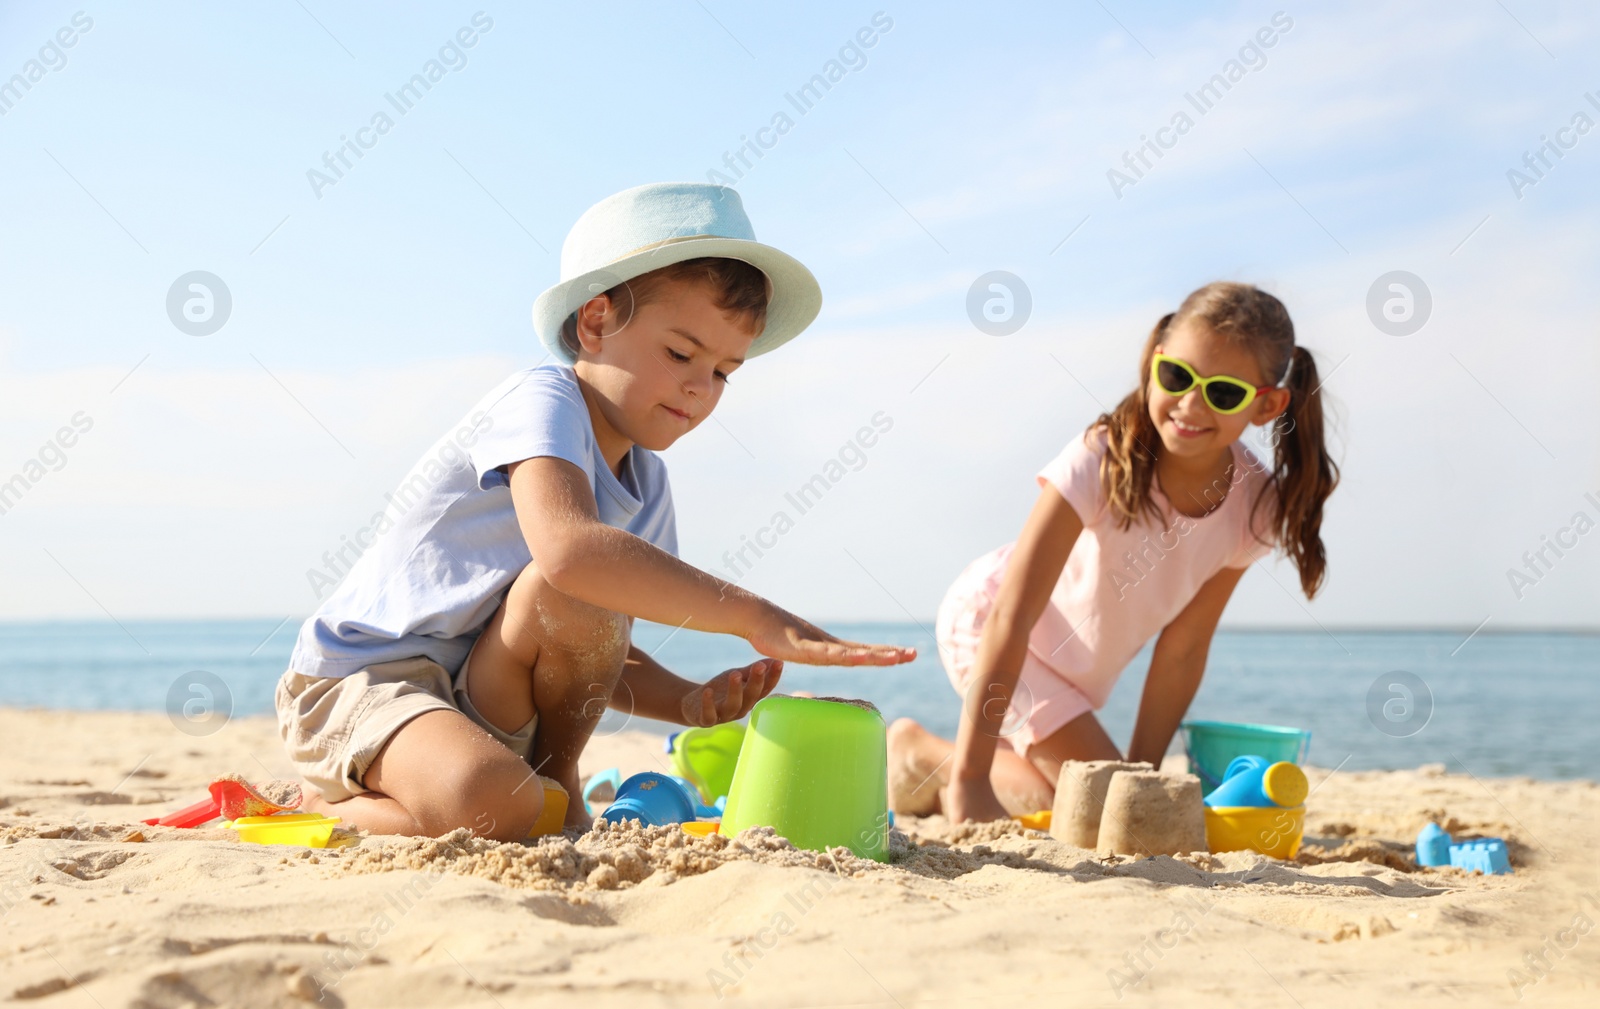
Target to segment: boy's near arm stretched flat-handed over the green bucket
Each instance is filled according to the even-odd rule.
[[[762,596],[685,564],[600,521],[584,472],[555,457],[507,467],[517,524],[557,590],[614,612],[746,638],[774,659],[813,665],[893,665],[910,648],[842,641]]]

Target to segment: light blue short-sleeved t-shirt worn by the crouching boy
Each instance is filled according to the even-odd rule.
[[[389,494],[376,536],[301,627],[290,668],[347,676],[426,656],[451,675],[533,556],[499,467],[552,456],[584,472],[600,521],[674,556],[677,523],[667,467],[634,446],[618,478],[566,365],[518,371],[467,413]]]

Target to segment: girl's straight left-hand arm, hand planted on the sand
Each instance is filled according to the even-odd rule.
[[[1045,612],[1050,593],[1067,566],[1072,544],[1083,531],[1083,521],[1067,499],[1053,486],[1042,488],[1022,534],[1011,550],[1000,592],[995,595],[989,620],[978,643],[971,686],[962,710],[962,728],[955,734],[950,790],[946,816],[995,820],[1006,816],[989,784],[995,742],[1005,723],[1011,691],[1022,675],[1027,636]]]

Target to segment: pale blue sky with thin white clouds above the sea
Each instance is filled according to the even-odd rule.
[[[384,96],[478,11],[493,26],[398,115]],[[1600,622],[1600,532],[1563,534],[1520,598],[1507,577],[1600,520],[1600,128],[1507,177],[1600,122],[1600,14],[1525,0],[6,5],[0,77],[59,69],[0,94],[0,481],[42,475],[0,515],[0,614],[309,612],[322,553],[541,358],[530,307],[576,216],[722,168],[875,14],[856,69],[738,179],[826,304],[667,454],[686,560],[726,574],[883,414],[746,584],[819,619],[926,619],[1131,389],[1150,325],[1229,278],[1278,294],[1331,373],[1346,477],[1325,593],[1262,563],[1229,624]],[[1264,64],[1195,114],[1184,96],[1275,14]],[[1107,171],[1186,109],[1115,192]],[[307,171],[379,110],[392,130],[317,192]],[[192,270],[232,297],[210,336],[166,315]],[[1032,297],[1010,336],[966,313],[992,270]],[[1366,313],[1390,270],[1432,294],[1414,334]]]

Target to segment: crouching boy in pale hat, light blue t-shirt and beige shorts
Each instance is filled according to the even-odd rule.
[[[656,453],[819,310],[816,278],[755,241],[731,189],[640,185],[589,208],[534,302],[562,363],[501,382],[422,457],[392,526],[301,628],[277,710],[304,808],[374,833],[522,840],[538,772],[587,828],[578,756],[608,705],[715,724],[747,715],[784,660],[914,659],[677,560]],[[634,617],[768,657],[696,684],[629,643]]]

